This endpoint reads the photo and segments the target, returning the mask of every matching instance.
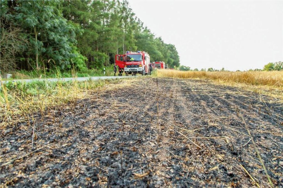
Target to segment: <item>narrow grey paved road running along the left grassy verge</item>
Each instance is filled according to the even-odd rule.
[[[115,79],[115,78],[132,78],[132,77],[137,77],[137,76],[93,76],[93,77],[78,77],[78,78],[35,78],[35,79],[23,79],[23,80],[12,80],[12,81],[21,81],[21,82],[32,82],[32,81],[72,81],[72,80],[77,80],[77,81],[86,81],[86,80],[105,80],[105,79]],[[2,81],[2,83],[5,83],[7,81]],[[1,83],[0,83],[1,85]]]

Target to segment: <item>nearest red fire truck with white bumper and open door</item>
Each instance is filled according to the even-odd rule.
[[[132,74],[147,75],[149,73],[150,57],[144,51],[130,52],[123,55],[115,55],[115,65],[118,65],[119,76],[125,72],[126,76]]]

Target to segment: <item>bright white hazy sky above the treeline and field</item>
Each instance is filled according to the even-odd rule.
[[[283,61],[283,0],[129,0],[181,65],[248,70]]]

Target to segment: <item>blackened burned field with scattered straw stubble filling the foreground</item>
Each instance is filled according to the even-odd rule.
[[[1,186],[268,187],[255,147],[283,186],[276,99],[169,78],[88,95],[1,130]]]

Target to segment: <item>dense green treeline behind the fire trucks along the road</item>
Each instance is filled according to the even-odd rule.
[[[114,55],[144,50],[151,60],[178,67],[179,55],[144,27],[127,0],[1,3],[1,72],[16,69],[102,68]]]

